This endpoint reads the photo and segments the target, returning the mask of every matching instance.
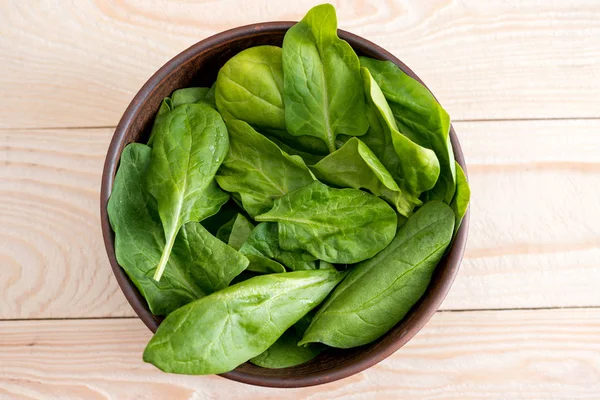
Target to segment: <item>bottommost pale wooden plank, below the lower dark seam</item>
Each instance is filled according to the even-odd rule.
[[[575,399],[600,394],[600,310],[442,312],[358,375],[303,389],[165,374],[137,319],[0,322],[7,399]]]

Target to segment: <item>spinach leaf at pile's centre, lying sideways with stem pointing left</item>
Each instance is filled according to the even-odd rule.
[[[378,197],[319,181],[275,200],[255,220],[278,222],[283,249],[340,264],[373,257],[394,238],[397,224],[394,210]]]

